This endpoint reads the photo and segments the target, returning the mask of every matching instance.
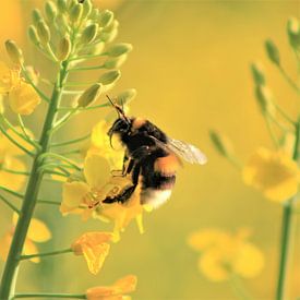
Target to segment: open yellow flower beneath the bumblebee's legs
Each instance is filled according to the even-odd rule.
[[[85,181],[72,181],[63,184],[62,214],[82,214],[84,218],[94,218],[113,221],[116,239],[132,219],[136,219],[141,232],[143,206],[140,204],[140,188],[137,187],[131,199],[124,203],[101,203],[107,196],[116,196],[132,185],[131,177],[110,177],[104,158],[89,153],[84,163]],[[104,167],[106,166],[106,170]]]

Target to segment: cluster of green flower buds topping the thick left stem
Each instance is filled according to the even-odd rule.
[[[72,64],[93,56],[107,57],[103,69],[119,69],[132,50],[129,44],[112,45],[119,23],[109,10],[100,11],[92,0],[48,0],[44,13],[35,9],[28,28],[32,43],[55,61]],[[80,58],[84,57],[83,60]]]

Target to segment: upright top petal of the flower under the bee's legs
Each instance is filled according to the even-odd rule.
[[[87,183],[93,188],[99,188],[109,175],[106,159],[95,153],[89,153],[84,161],[84,176]]]

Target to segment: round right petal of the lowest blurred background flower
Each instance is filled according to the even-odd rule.
[[[233,272],[238,275],[251,278],[261,273],[264,267],[263,253],[252,243],[243,243],[233,262]]]

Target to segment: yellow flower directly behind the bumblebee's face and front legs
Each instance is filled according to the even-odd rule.
[[[92,131],[89,153],[97,153],[107,159],[112,170],[121,170],[123,165],[124,151],[121,142],[112,136],[111,147],[107,135],[110,124],[106,121],[98,122]]]

